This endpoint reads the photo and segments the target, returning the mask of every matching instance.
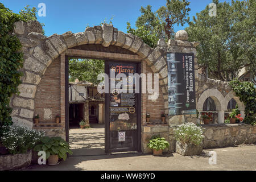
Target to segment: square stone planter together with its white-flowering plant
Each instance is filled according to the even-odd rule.
[[[194,123],[183,123],[175,129],[176,152],[181,155],[198,155],[203,152],[203,129]]]

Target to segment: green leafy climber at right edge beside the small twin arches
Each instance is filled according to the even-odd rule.
[[[237,79],[229,82],[236,96],[240,98],[240,101],[245,104],[245,118],[244,123],[255,125],[255,113],[256,113],[256,89],[253,82],[239,81]]]

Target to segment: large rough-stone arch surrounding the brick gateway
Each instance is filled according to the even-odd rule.
[[[35,93],[47,68],[68,48],[83,44],[101,44],[104,47],[113,45],[136,53],[146,61],[153,73],[159,73],[162,92],[167,93],[168,75],[164,48],[166,45],[162,42],[155,49],[150,48],[138,36],[118,31],[112,24],[88,27],[84,32],[76,34],[69,31],[63,35],[53,34],[46,37],[42,34],[42,26],[39,22],[16,22],[14,34],[22,43],[24,53],[24,64],[21,69],[24,76],[22,84],[19,85],[20,94],[13,96],[10,103],[13,107],[12,118],[15,123],[23,123],[32,128]],[[168,113],[167,99],[164,100],[164,108]]]

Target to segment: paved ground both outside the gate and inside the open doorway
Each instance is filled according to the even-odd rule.
[[[254,170],[256,145],[204,150],[203,155],[182,156],[177,153],[163,156],[142,154],[104,155],[104,127],[72,129],[70,144],[73,155],[57,166],[31,165],[23,170]],[[209,164],[209,151],[217,154],[217,164]],[[102,154],[102,155],[97,155]],[[85,156],[89,155],[89,156]]]

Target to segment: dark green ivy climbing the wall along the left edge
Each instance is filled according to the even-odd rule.
[[[18,93],[23,66],[22,45],[16,36],[11,35],[13,24],[18,21],[34,20],[34,11],[27,9],[16,14],[0,3],[0,125],[10,125],[10,97]]]

